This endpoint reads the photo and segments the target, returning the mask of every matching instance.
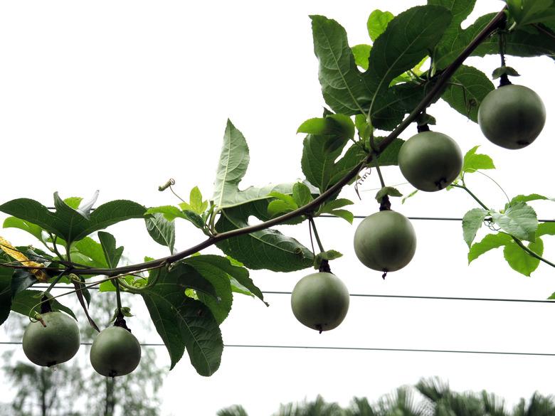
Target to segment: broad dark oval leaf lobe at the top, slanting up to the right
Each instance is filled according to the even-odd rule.
[[[385,94],[394,78],[418,65],[433,50],[450,21],[451,14],[443,7],[416,6],[388,23],[372,46],[364,73],[372,101]]]

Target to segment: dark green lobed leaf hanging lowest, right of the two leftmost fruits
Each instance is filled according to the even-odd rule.
[[[171,272],[154,270],[149,279],[157,279],[157,283],[144,289],[141,295],[168,349],[171,368],[186,348],[197,373],[208,376],[220,366],[223,341],[208,306],[185,295],[185,290],[191,287],[188,284],[191,272],[198,275],[188,265],[177,265]]]

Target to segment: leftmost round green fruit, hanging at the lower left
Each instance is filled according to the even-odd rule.
[[[75,319],[59,311],[46,312],[41,317],[46,327],[40,321],[31,322],[23,333],[23,352],[27,358],[44,367],[73,358],[80,345]]]

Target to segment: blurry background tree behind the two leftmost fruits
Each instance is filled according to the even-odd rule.
[[[102,327],[110,324],[114,314],[115,297],[95,297],[95,313],[101,314]],[[83,343],[93,341],[95,331],[80,318]],[[133,317],[136,324],[139,318]],[[15,339],[21,338],[26,318],[14,319],[6,326]],[[142,322],[144,324],[144,321]],[[138,327],[138,326],[137,326]],[[38,367],[28,361],[13,361],[14,351],[3,354],[3,370],[16,394],[11,402],[14,416],[159,416],[157,392],[162,386],[165,368],[157,364],[156,351],[142,347],[142,359],[137,370],[119,377],[106,378],[97,374],[89,363],[90,346],[83,346],[79,359],[63,363],[56,368]],[[84,400],[86,410],[75,403]],[[2,413],[4,415],[4,413]]]

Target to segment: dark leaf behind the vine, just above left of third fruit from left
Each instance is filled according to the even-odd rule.
[[[268,203],[256,201],[222,210],[216,230],[218,233],[248,227],[248,218],[254,215],[268,220]],[[216,243],[218,248],[242,262],[249,269],[268,269],[274,272],[292,272],[312,265],[310,250],[294,238],[277,230],[266,229],[240,235]]]

